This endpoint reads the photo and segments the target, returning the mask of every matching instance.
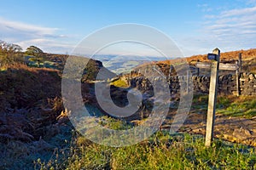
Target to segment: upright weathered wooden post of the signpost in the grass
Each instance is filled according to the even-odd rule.
[[[211,66],[211,82],[209,89],[209,101],[208,101],[208,111],[207,111],[207,134],[206,134],[206,146],[210,146],[213,137],[213,127],[215,119],[215,105],[217,99],[218,90],[218,65],[220,50],[215,48],[212,54],[216,54],[216,58],[212,60]]]

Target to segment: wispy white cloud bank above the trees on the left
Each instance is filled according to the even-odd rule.
[[[73,44],[67,43],[68,36],[58,34],[59,28],[34,26],[0,17],[0,39],[19,44],[23,49],[31,45],[42,48],[45,52],[67,53]],[[69,39],[70,40],[70,39]]]

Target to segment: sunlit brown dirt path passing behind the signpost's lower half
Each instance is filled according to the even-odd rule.
[[[206,134],[206,114],[192,112],[186,119],[181,132]],[[256,117],[253,119],[217,115],[214,137],[230,142],[256,146]]]

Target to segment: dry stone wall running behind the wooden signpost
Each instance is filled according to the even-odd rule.
[[[155,77],[154,81],[159,81],[161,77]],[[181,80],[181,81],[180,81]],[[187,77],[168,77],[171,94],[178,94],[181,87],[180,83],[186,86]],[[194,92],[197,94],[207,94],[209,92],[210,77],[193,76]],[[152,83],[154,83],[154,81]],[[240,74],[240,91],[241,95],[256,95],[256,76],[252,73]],[[130,80],[132,88],[148,91],[153,90],[153,86],[148,79],[144,77],[133,77]],[[189,87],[189,90],[192,90]],[[218,94],[236,94],[236,75],[222,75],[218,77]]]

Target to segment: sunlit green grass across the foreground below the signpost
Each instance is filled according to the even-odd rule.
[[[111,121],[113,128],[124,128]],[[114,123],[113,123],[114,122]],[[119,122],[119,123],[118,123]],[[117,125],[118,123],[118,125]],[[38,169],[255,169],[256,150],[242,144],[214,139],[206,147],[200,135],[158,132],[149,139],[126,147],[94,144],[76,133],[65,155],[61,151],[48,162],[35,161]],[[56,155],[56,154],[55,154]]]

